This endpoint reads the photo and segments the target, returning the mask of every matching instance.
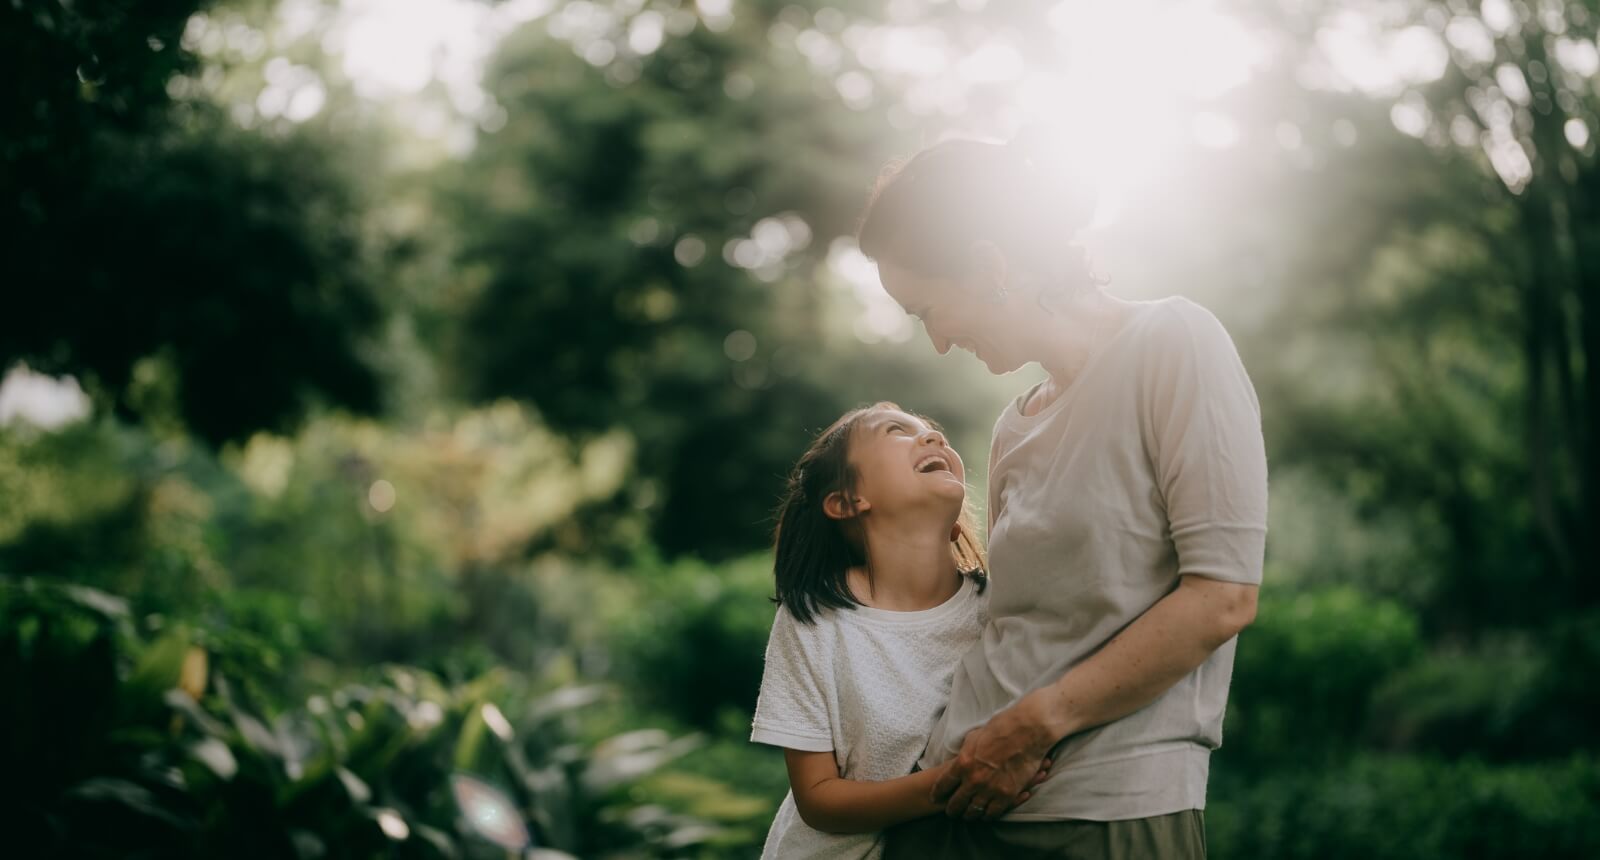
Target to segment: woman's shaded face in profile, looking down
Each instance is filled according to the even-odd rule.
[[[1029,361],[1018,348],[1019,331],[1011,317],[1016,299],[997,301],[1002,296],[997,285],[922,275],[890,261],[878,262],[878,278],[906,313],[922,320],[939,355],[950,347],[963,348],[992,374],[1008,374]]]

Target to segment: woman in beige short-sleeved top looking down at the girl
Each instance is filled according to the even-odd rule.
[[[920,762],[950,762],[947,815],[891,830],[890,860],[1205,855],[1261,582],[1261,414],[1210,312],[1099,288],[1067,241],[1090,209],[1013,145],[950,141],[886,171],[862,219],[938,352],[1050,374],[995,424],[990,622]]]

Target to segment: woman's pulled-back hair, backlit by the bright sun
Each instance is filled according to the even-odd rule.
[[[1070,243],[1094,213],[1094,195],[1043,168],[1038,149],[957,139],[890,163],[861,216],[861,253],[957,278],[973,243],[987,240],[1056,289],[1094,286],[1083,249]]]

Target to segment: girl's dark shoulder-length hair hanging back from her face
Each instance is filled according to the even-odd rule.
[[[773,579],[778,590],[773,601],[802,623],[811,623],[822,609],[861,606],[850,593],[848,580],[850,569],[856,566],[866,566],[867,575],[872,574],[861,523],[854,518],[830,518],[822,510],[822,502],[834,492],[843,492],[846,504],[851,504],[856,489],[856,470],[850,465],[851,433],[861,419],[883,409],[899,406],[885,401],[845,412],[811,441],[811,448],[789,472],[773,536]],[[938,428],[934,422],[928,424]],[[955,567],[982,585],[984,555],[965,504],[957,526],[960,534],[950,543]]]

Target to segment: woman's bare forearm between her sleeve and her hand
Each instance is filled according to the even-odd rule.
[[[1256,615],[1256,587],[1186,575],[1094,655],[1019,702],[1042,740],[1120,719],[1154,702]]]

